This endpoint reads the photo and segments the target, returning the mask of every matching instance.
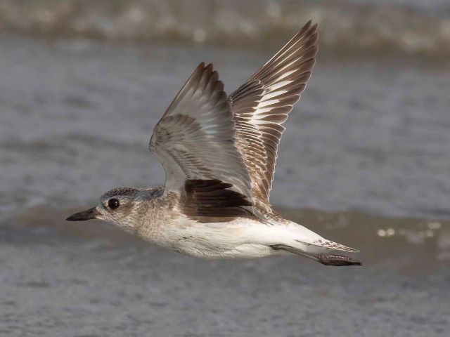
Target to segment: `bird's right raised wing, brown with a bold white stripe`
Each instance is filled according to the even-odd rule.
[[[311,77],[317,37],[317,25],[311,26],[309,21],[229,97],[236,146],[252,180],[253,201],[260,209],[270,209],[276,152],[285,130],[281,124]]]

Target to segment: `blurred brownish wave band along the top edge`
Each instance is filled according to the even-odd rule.
[[[278,46],[307,20],[348,53],[450,55],[446,0],[4,0],[3,31],[44,37]]]

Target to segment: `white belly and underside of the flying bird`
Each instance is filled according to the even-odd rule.
[[[226,223],[198,223],[180,217],[139,235],[159,246],[200,258],[261,258],[286,254],[285,251],[271,249],[274,244],[312,251],[317,246],[307,243],[322,239],[297,223],[267,224],[248,218]]]

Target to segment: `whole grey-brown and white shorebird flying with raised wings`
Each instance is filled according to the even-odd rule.
[[[278,143],[317,53],[308,22],[231,95],[202,62],[153,129],[150,151],[165,187],[117,187],[67,220],[100,219],[147,242],[200,258],[297,254],[361,265],[356,252],[282,218],[269,203]]]

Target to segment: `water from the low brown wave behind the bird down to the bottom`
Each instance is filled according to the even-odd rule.
[[[447,336],[444,221],[281,209],[361,250],[362,267],[298,257],[198,260],[45,207],[0,226],[5,336]],[[49,220],[52,218],[53,220]]]

